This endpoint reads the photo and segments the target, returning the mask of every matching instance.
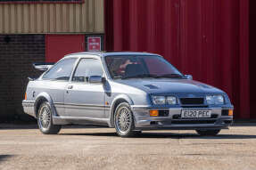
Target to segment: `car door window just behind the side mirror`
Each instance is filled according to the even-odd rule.
[[[96,59],[81,59],[72,81],[87,82],[90,76],[103,76],[101,61]]]

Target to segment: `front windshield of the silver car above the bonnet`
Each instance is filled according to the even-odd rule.
[[[128,78],[184,78],[168,61],[157,55],[106,56],[111,77]]]

